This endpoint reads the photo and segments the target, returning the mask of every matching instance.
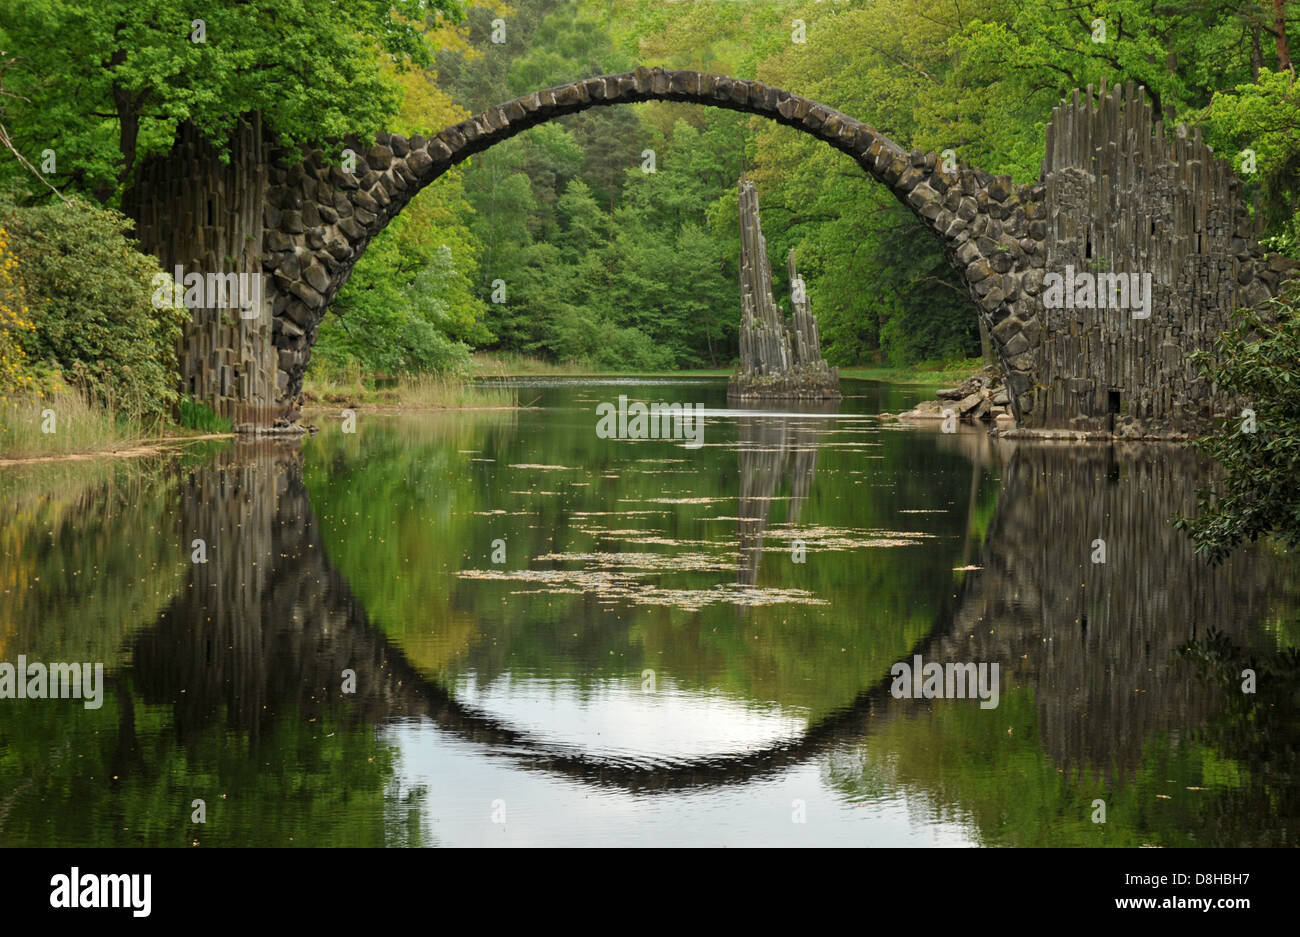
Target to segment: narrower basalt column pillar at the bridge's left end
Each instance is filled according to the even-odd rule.
[[[140,248],[173,277],[181,273],[190,309],[179,350],[182,392],[242,430],[269,429],[285,415],[274,405],[272,311],[261,296],[268,160],[257,116],[235,130],[226,162],[183,123],[172,151],[140,166],[124,205]],[[202,289],[194,289],[200,278]],[[247,308],[238,299],[240,279]]]

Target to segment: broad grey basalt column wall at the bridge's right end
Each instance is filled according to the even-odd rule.
[[[1022,426],[1199,433],[1244,405],[1216,392],[1191,355],[1213,347],[1238,307],[1275,295],[1296,265],[1264,255],[1234,168],[1200,130],[1170,135],[1157,117],[1132,83],[1089,86],[1053,110],[1046,212],[1030,225],[1044,260],[1002,277],[1004,294],[1018,291],[994,327]],[[1070,281],[1057,294],[1044,282],[1052,274]]]

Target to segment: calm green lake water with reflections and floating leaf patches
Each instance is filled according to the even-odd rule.
[[[107,682],[0,699],[0,845],[1295,845],[1300,577],[1191,555],[1204,467],[845,387],[0,470],[0,660]],[[702,446],[599,438],[620,394]],[[916,655],[997,706],[896,699]]]

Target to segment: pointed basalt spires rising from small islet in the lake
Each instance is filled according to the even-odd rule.
[[[772,270],[758,217],[758,191],[740,182],[740,366],[727,396],[740,400],[838,399],[840,374],[822,359],[816,320],[789,257],[793,320],[772,299]]]

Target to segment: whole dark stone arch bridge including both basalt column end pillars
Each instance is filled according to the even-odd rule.
[[[935,234],[992,335],[1024,428],[1136,435],[1186,430],[1223,402],[1188,355],[1238,305],[1294,270],[1254,243],[1230,168],[1199,136],[1166,140],[1141,88],[1076,91],[1056,108],[1043,173],[1020,186],[948,172],[824,104],[760,82],[640,68],[537,91],[432,138],[350,140],[354,172],[318,149],[289,159],[254,116],[222,162],[192,127],[148,161],[127,198],[164,269],[269,274],[255,318],[195,309],[185,390],[247,430],[296,421],[326,309],[369,242],[447,169],[529,127],[592,107],[690,101],[759,114],[850,156]],[[1044,277],[1152,274],[1150,309],[1046,308]]]

